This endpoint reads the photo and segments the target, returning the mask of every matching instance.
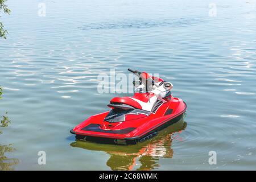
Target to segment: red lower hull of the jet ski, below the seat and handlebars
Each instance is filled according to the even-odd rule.
[[[117,123],[104,119],[109,111],[86,119],[71,130],[76,139],[98,143],[136,144],[158,134],[158,131],[180,121],[187,105],[180,98],[171,96],[170,101],[161,104],[154,113],[130,113],[130,120]],[[144,115],[143,115],[144,114]]]

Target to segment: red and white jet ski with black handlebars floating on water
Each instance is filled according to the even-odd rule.
[[[136,144],[178,122],[187,109],[171,94],[172,84],[146,72],[128,69],[137,76],[133,97],[114,97],[110,111],[92,115],[71,130],[76,139],[113,144]]]

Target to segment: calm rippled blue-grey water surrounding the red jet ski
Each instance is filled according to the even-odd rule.
[[[255,1],[7,5],[0,115],[11,123],[0,127],[1,169],[256,169]],[[188,105],[184,119],[136,146],[76,142],[69,130],[118,95],[97,92],[98,74],[127,68],[171,81]]]

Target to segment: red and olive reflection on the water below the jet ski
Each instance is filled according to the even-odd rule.
[[[112,170],[151,170],[159,167],[159,158],[172,158],[174,154],[171,148],[174,139],[172,135],[177,131],[181,133],[186,126],[187,123],[181,118],[179,122],[160,131],[156,137],[129,147],[79,140],[71,143],[71,146],[92,151],[105,151],[110,155],[106,165]]]

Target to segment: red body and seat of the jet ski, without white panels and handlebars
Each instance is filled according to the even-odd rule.
[[[157,100],[151,111],[143,110],[140,104],[151,96],[152,93],[135,93],[133,97],[115,97],[108,105],[112,110],[92,115],[71,133],[79,140],[113,144],[135,144],[154,137],[158,131],[179,121],[187,105],[170,94]],[[134,100],[142,102],[138,104]]]

